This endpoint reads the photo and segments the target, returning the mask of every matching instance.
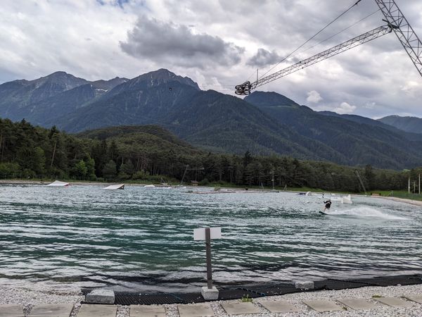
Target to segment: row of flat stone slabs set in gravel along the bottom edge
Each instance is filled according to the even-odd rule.
[[[315,293],[309,293],[315,294]],[[284,297],[283,297],[284,298]],[[309,298],[309,297],[308,297]],[[403,297],[380,298],[335,298],[330,300],[260,298],[254,302],[206,302],[186,305],[132,305],[117,306],[107,304],[36,304],[32,305],[0,305],[0,317],[200,317],[200,316],[422,316],[422,294],[407,294]],[[324,298],[324,297],[323,297]],[[293,299],[293,301],[292,301]],[[305,306],[306,305],[306,306]],[[79,311],[78,311],[79,309]],[[24,312],[30,311],[24,316]],[[334,315],[332,315],[333,313]],[[286,313],[288,315],[286,315]],[[351,314],[351,315],[350,315]]]

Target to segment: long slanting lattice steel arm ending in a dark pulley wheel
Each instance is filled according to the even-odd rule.
[[[282,70],[279,70],[276,73],[257,79],[255,82],[249,82],[249,81],[243,82],[243,84],[237,85],[235,87],[236,89],[235,94],[239,94],[239,95],[250,94],[252,89],[265,85],[268,82],[272,82],[273,80],[278,80],[279,78],[289,75],[291,73],[295,73],[296,71],[301,70],[302,68],[314,65],[320,61],[324,61],[325,59],[330,58],[331,56],[335,56],[340,53],[343,53],[343,51],[348,51],[349,49],[353,49],[356,46],[372,41],[373,39],[377,39],[378,37],[382,37],[383,35],[390,33],[391,30],[392,30],[392,27],[388,27],[388,26],[376,27],[375,29],[369,32],[366,32],[362,35],[349,39],[346,42],[333,46],[331,47],[331,49],[327,49],[326,51],[323,51],[312,57],[304,59],[303,61],[295,63],[292,66],[283,68]]]

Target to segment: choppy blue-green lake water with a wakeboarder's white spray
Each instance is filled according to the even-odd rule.
[[[422,209],[385,199],[333,202],[283,192],[192,194],[128,186],[0,186],[0,283],[191,291],[212,241],[217,285],[422,273]]]

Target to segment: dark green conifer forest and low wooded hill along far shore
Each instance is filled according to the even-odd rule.
[[[409,176],[416,180],[422,168],[397,171],[370,165],[339,166],[254,156],[249,151],[243,156],[216,154],[195,149],[160,127],[120,134],[110,128],[101,137],[89,138],[68,135],[56,127],[34,127],[25,120],[0,119],[0,178],[150,182],[180,182],[184,178],[186,183],[196,180],[200,185],[362,192],[357,173],[366,190],[399,190],[407,189]]]

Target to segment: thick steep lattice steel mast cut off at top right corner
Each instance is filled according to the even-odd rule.
[[[375,0],[385,19],[422,76],[422,42],[394,0]]]

